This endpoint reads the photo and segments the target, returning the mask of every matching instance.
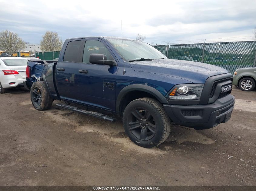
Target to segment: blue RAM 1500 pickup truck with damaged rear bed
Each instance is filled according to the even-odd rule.
[[[174,123],[194,129],[226,123],[232,80],[223,68],[168,59],[138,40],[84,37],[65,40],[58,62],[29,62],[24,85],[35,109],[62,100],[58,107],[111,122],[121,117],[131,141],[150,148],[168,138]]]

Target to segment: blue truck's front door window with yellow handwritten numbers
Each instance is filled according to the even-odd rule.
[[[90,54],[104,54],[107,56],[107,60],[114,60],[106,46],[98,40],[86,40],[83,63],[90,63]]]

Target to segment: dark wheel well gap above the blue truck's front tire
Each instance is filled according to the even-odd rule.
[[[123,115],[123,112],[125,110],[125,107],[133,100],[136,100],[138,98],[142,97],[150,97],[155,100],[158,100],[155,96],[152,94],[145,92],[145,91],[130,91],[127,94],[125,94],[124,97],[121,99],[121,103],[119,104],[119,116]],[[159,101],[159,100],[158,100]]]

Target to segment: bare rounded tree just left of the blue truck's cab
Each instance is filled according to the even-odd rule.
[[[62,48],[62,39],[57,32],[46,31],[40,41],[40,47],[43,52],[58,51]]]

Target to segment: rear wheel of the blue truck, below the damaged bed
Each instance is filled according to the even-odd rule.
[[[52,98],[48,94],[43,81],[36,81],[30,89],[31,102],[35,109],[48,110],[52,106]]]

